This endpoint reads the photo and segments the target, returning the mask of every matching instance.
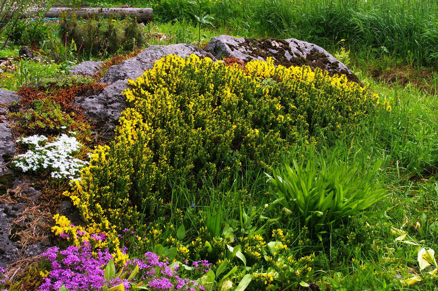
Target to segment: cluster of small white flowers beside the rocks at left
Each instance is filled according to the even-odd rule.
[[[73,157],[74,152],[77,152],[82,145],[74,136],[70,137],[66,134],[60,135],[53,142],[43,144],[42,142],[46,140],[43,135],[22,138],[20,142],[35,145],[35,148],[16,156],[14,165],[21,168],[23,172],[44,168],[51,170],[54,178],[75,179],[78,171],[88,164],[87,161]]]

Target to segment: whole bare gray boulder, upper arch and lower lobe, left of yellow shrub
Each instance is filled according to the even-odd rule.
[[[188,44],[151,45],[134,58],[127,59],[119,65],[111,66],[100,83],[109,83],[101,93],[90,97],[78,97],[75,105],[85,111],[85,115],[95,119],[96,128],[104,137],[114,134],[120,113],[127,107],[126,98],[122,91],[128,88],[128,79],[135,80],[146,70],[151,69],[156,60],[165,55],[180,55],[186,57],[191,54],[199,57],[215,59],[211,54]]]

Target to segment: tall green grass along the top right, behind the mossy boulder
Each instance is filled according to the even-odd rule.
[[[154,3],[158,21],[189,18],[191,8],[185,1]],[[348,46],[370,48],[377,55],[390,53],[429,65],[438,62],[438,3],[432,0],[219,0],[208,9],[215,15],[216,27],[246,29],[240,36],[293,37],[323,47],[344,39]]]

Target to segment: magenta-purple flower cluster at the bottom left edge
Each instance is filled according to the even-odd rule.
[[[93,255],[89,243],[83,242],[81,247],[69,246],[66,250],[58,247],[51,247],[46,250],[46,256],[51,263],[53,270],[49,276],[44,278],[38,291],[58,291],[61,286],[65,286],[69,291],[100,291],[103,285],[112,287],[124,284],[125,290],[130,290],[131,285],[143,281],[144,286],[151,291],[163,290],[204,290],[203,286],[196,284],[188,278],[182,278],[179,268],[170,267],[168,262],[163,262],[155,253],[145,253],[141,259],[134,258],[126,263],[124,270],[134,270],[138,265],[138,274],[128,281],[116,278],[110,282],[104,279],[104,269],[111,260],[112,255],[108,249],[98,250],[97,255]],[[210,266],[207,261],[193,263],[194,267],[200,267],[203,271]]]

